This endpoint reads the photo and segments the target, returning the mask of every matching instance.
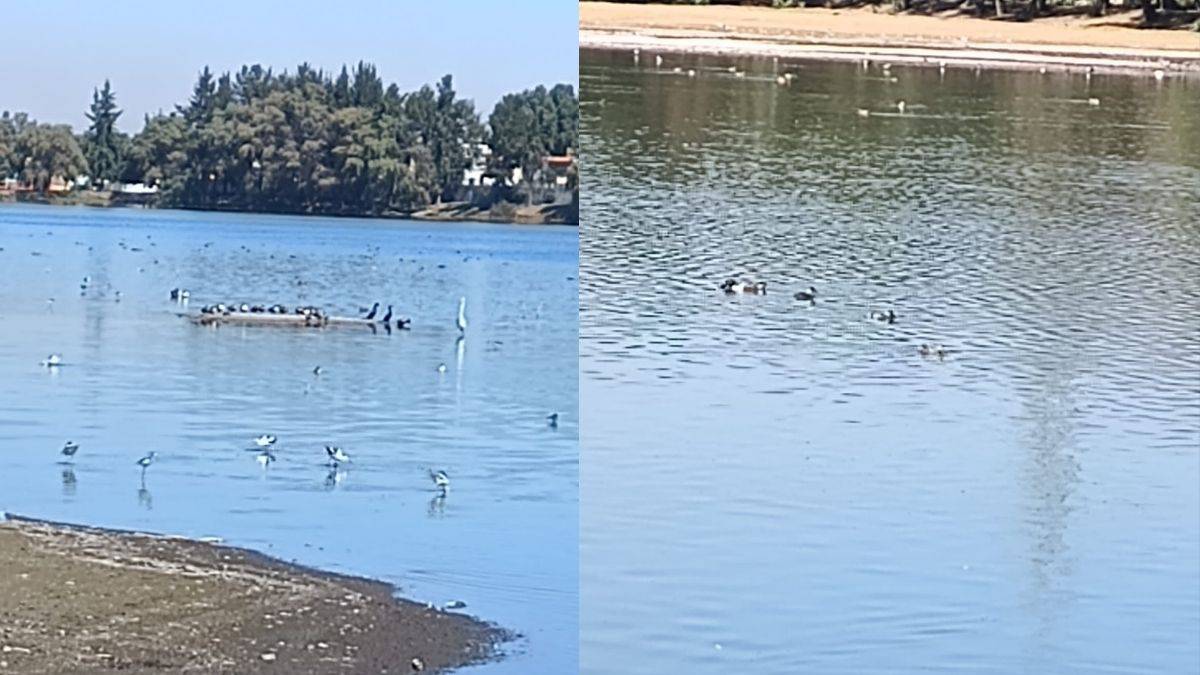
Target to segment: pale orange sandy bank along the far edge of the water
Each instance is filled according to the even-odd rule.
[[[580,4],[580,46],[794,59],[970,64],[1054,70],[1163,70],[1200,74],[1200,34],[1139,30],[1135,13],[1036,22],[958,13],[890,14],[847,10]]]

